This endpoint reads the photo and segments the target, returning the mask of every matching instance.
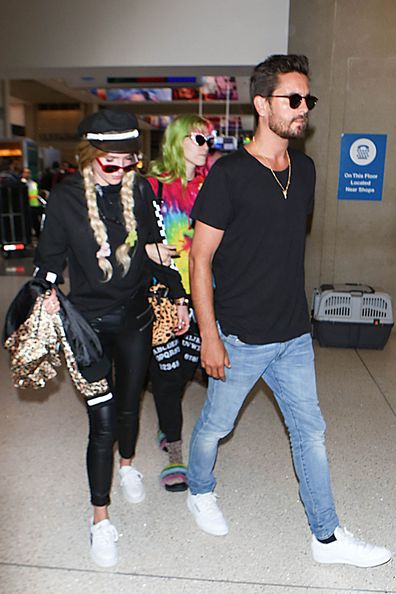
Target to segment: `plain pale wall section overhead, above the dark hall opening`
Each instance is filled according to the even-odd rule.
[[[238,74],[287,48],[289,0],[19,0],[2,12],[0,78],[114,66]]]

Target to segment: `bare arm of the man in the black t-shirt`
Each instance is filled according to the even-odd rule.
[[[213,305],[212,261],[224,231],[197,221],[190,251],[190,280],[194,310],[201,333],[201,364],[208,375],[224,379],[231,367],[216,326]]]

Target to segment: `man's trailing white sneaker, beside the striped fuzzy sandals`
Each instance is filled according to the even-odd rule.
[[[187,507],[201,530],[214,536],[225,536],[228,526],[216,499],[217,495],[213,492],[192,495],[189,491]]]

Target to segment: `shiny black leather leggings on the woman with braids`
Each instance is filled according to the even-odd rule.
[[[114,442],[118,441],[122,458],[135,454],[140,395],[151,355],[152,331],[151,312],[139,318],[136,313],[146,308],[147,301],[139,299],[128,311],[119,308],[90,321],[112,362],[107,379],[113,393],[112,400],[87,406],[87,469],[92,505],[110,503]]]

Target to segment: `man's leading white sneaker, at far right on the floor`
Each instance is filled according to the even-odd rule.
[[[376,567],[392,558],[385,547],[377,547],[357,540],[346,528],[337,527],[334,531],[337,540],[329,544],[312,537],[312,556],[318,563],[344,563],[357,567]]]

